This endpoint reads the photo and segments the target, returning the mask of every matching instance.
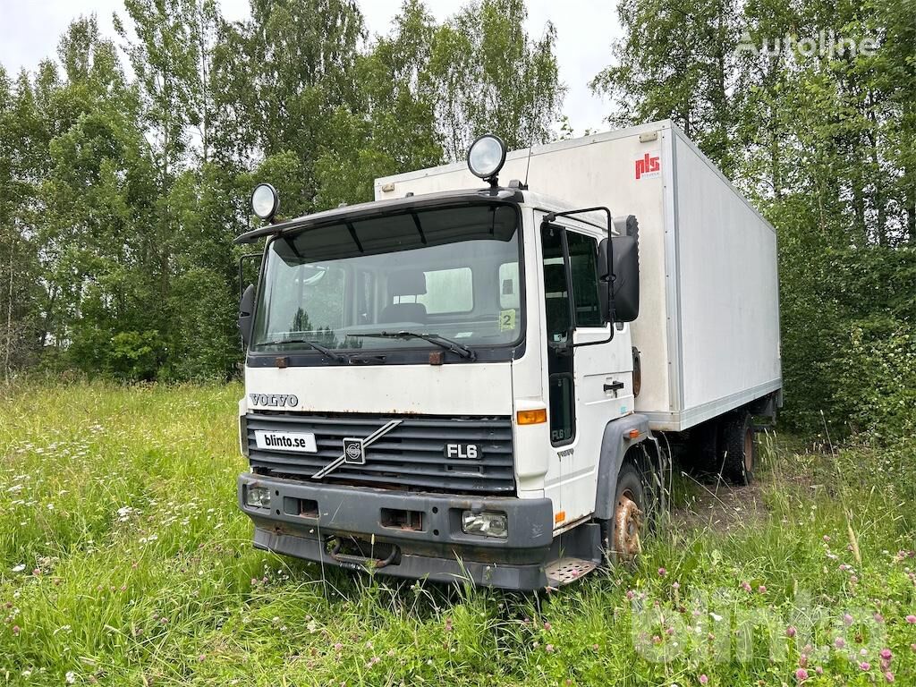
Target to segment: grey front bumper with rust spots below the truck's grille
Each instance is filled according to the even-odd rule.
[[[269,507],[245,505],[253,486],[270,490]],[[533,590],[548,584],[544,565],[556,556],[548,498],[417,494],[242,474],[238,503],[255,523],[256,547],[325,565],[362,568],[329,552],[334,542],[356,538],[392,551],[377,573]],[[507,538],[464,534],[461,515],[468,509],[506,513]],[[392,526],[386,516],[392,511],[415,514],[420,527]]]

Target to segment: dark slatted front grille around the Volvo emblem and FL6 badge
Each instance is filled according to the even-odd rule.
[[[365,438],[401,423],[365,449],[365,465],[344,463],[321,481],[333,484],[509,496],[515,493],[512,423],[509,418],[323,416],[249,413],[245,417],[248,460],[258,474],[308,479],[344,453],[344,438]],[[255,431],[313,432],[317,453],[257,448]],[[474,443],[477,459],[446,458],[446,443]]]

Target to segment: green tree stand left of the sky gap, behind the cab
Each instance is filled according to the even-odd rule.
[[[232,239],[256,182],[289,218],[369,200],[376,176],[442,162],[446,141],[484,126],[550,138],[553,35],[530,41],[523,21],[518,0],[493,0],[440,26],[413,0],[368,41],[351,0],[254,0],[232,24],[216,0],[126,0],[114,27],[130,78],[94,16],[68,27],[59,62],[0,70],[3,376],[232,376]]]

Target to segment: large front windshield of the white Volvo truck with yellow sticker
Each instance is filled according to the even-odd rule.
[[[252,349],[439,347],[417,334],[467,349],[515,344],[518,259],[518,209],[507,204],[400,211],[280,236],[267,246]],[[378,335],[399,332],[414,335]]]

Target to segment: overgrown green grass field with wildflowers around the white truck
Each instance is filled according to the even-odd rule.
[[[520,596],[252,549],[239,386],[2,393],[0,684],[916,684],[908,445],[769,436],[635,569]]]

